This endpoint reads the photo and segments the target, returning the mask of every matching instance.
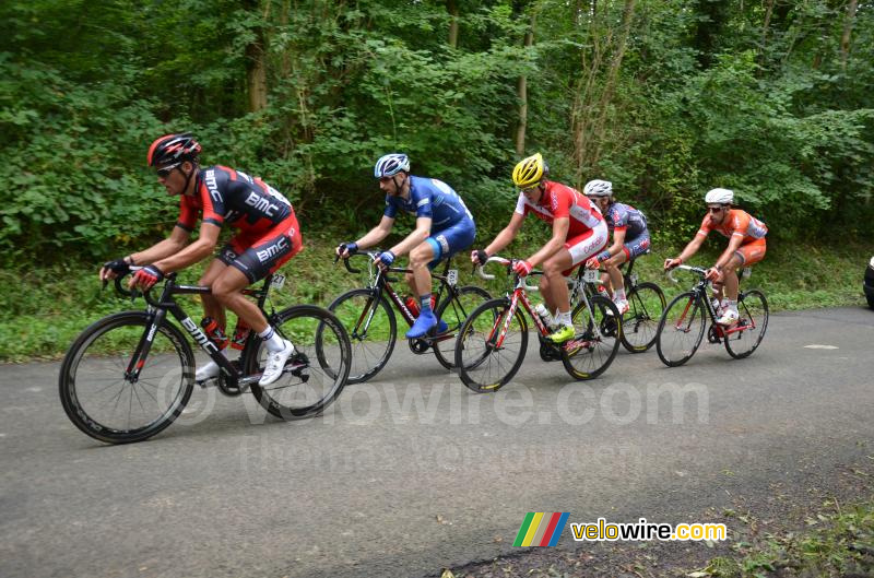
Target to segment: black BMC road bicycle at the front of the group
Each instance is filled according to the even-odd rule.
[[[132,267],[135,271],[140,268]],[[110,444],[146,439],[170,425],[182,412],[194,387],[194,354],[182,329],[221,367],[218,377],[199,384],[217,387],[227,396],[250,389],[271,414],[298,420],[320,413],[345,386],[351,350],[342,323],[330,311],[297,305],[280,311],[264,310],[271,287],[284,275],[269,275],[261,288],[247,288],[269,322],[295,347],[280,379],[261,387],[267,347],[255,331],[243,344],[238,359],[228,359],[182,310],[175,295],[203,295],[210,287],[180,285],[176,273],[166,276],[161,297],[141,295],[145,310],[107,316],[70,346],[60,369],[61,403],[70,420],[88,436]],[[133,298],[139,292],[115,287]],[[172,314],[179,326],[170,322]]]

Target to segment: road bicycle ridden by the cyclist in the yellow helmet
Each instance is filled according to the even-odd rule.
[[[494,275],[486,274],[486,264],[496,262],[506,268],[512,279],[512,288],[507,295],[488,300],[477,307],[464,321],[456,344],[456,366],[461,380],[476,392],[497,391],[513,378],[528,349],[528,320],[523,311],[534,323],[544,361],[559,358],[565,369],[575,379],[593,379],[604,373],[619,347],[622,321],[619,311],[613,302],[584,291],[587,284],[598,281],[598,271],[581,272],[571,290],[571,320],[575,328],[572,339],[555,344],[546,337],[552,332],[535,314],[528,298],[528,291],[538,291],[528,285],[527,278],[512,270],[516,260],[498,256],[489,257],[486,263],[477,269],[480,276],[486,280]],[[542,275],[542,271],[532,271],[531,275]]]

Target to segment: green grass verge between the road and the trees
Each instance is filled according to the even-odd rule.
[[[511,247],[512,252],[507,251],[505,256],[530,255],[535,249],[533,243],[533,238],[528,243],[517,243]],[[709,245],[717,246],[716,243]],[[274,305],[328,305],[342,292],[361,286],[365,278],[351,275],[340,264],[333,264],[332,253],[333,243],[327,238],[308,241],[307,249],[283,270],[288,280],[282,291],[273,292]],[[677,275],[681,282],[672,284],[661,272],[661,262],[668,255],[674,255],[674,251],[657,248],[656,255],[641,259],[635,267],[641,280],[658,282],[670,297],[692,286],[693,279]],[[693,264],[710,264],[716,255],[712,250],[702,251]],[[744,283],[763,288],[771,310],[863,306],[862,275],[872,255],[874,246],[838,249],[772,243],[766,260]],[[114,297],[109,288],[101,292],[97,267],[91,262],[68,262],[46,268],[0,270],[0,362],[58,358],[91,322],[110,312],[141,308],[142,300],[131,304]],[[458,261],[458,268],[461,283],[484,284],[472,275],[466,257]],[[200,270],[200,266],[193,267],[182,272],[180,280],[194,283]],[[507,287],[507,279],[498,272],[497,280],[486,286],[493,294],[500,294]],[[402,282],[398,288],[406,292]],[[182,299],[191,317],[200,319],[200,306],[196,299]]]

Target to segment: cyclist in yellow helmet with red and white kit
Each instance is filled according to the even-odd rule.
[[[519,189],[519,200],[510,223],[485,248],[471,253],[474,264],[482,264],[489,256],[504,249],[516,238],[529,213],[552,224],[553,236],[534,255],[517,261],[513,270],[529,275],[543,266],[540,291],[556,330],[548,335],[554,343],[564,343],[574,337],[570,318],[570,297],[565,275],[603,250],[607,243],[607,225],[598,209],[578,190],[547,180],[550,168],[536,153],[523,158],[512,170],[512,181]]]

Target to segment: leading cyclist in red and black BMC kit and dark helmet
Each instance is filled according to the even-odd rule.
[[[172,196],[178,194],[179,219],[170,236],[152,247],[109,261],[101,268],[101,280],[130,272],[130,266],[143,266],[129,286],[152,287],[172,271],[185,269],[213,253],[222,226],[239,228],[218,252],[200,279],[212,293],[202,295],[205,316],[213,318],[221,332],[208,331],[220,349],[224,339],[225,307],[237,314],[269,350],[267,366],[259,385],[272,384],[282,375],[285,362],[294,353],[291,342],[268,323],[258,306],[241,291],[274,272],[303,248],[300,227],[288,200],[260,178],[215,165],[201,167],[202,148],[190,133],[167,134],[149,148],[146,162],[155,168],[157,180]],[[188,243],[201,215],[197,240]],[[210,362],[197,370],[203,381],[218,375]]]

